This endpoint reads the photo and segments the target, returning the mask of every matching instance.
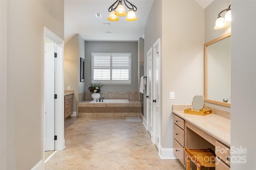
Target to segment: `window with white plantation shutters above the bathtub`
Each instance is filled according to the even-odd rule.
[[[131,84],[131,53],[92,53],[92,83]]]

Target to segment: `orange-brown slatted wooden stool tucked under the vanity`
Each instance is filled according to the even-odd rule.
[[[207,149],[188,149],[184,148],[187,153],[187,168],[186,170],[190,170],[190,160],[196,165],[196,170],[201,170],[201,168],[215,167],[215,153],[211,150],[211,148]]]

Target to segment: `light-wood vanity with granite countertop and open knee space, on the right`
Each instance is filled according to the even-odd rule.
[[[174,154],[180,162],[185,166],[184,147],[211,148],[216,154],[216,170],[230,170],[230,120],[216,114],[199,116],[186,114],[184,110],[172,112]]]

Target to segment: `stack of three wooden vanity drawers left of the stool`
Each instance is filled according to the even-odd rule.
[[[185,132],[184,132],[184,120],[174,114],[173,116],[173,147],[174,154],[180,160],[180,162],[185,166],[184,162],[184,141],[185,141]]]

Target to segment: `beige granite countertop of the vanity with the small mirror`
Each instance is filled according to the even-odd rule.
[[[186,114],[184,113],[184,110],[173,110],[172,112],[197,128],[200,128],[204,132],[210,134],[220,142],[230,146],[229,119],[216,114],[208,114],[206,116]]]

